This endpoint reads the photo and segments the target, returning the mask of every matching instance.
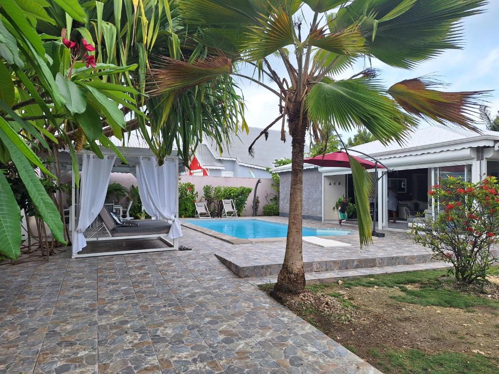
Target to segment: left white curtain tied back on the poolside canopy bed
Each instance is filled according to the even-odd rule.
[[[87,246],[83,232],[97,217],[106,199],[109,177],[116,156],[104,157],[103,160],[94,155],[83,155],[80,182],[80,215],[78,227],[73,233],[73,254]]]

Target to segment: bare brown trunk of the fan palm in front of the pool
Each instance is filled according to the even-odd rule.
[[[298,106],[299,107],[299,106]],[[277,278],[272,296],[280,299],[285,294],[302,291],[305,288],[303,271],[303,253],[301,242],[302,207],[303,207],[303,151],[305,147],[305,129],[299,124],[298,116],[289,116],[289,128],[292,131],[291,186],[289,188],[289,219],[286,238],[286,253],[282,268]],[[294,123],[293,123],[294,122]],[[306,123],[303,120],[302,123]]]

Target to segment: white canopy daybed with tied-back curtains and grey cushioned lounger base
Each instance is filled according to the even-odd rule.
[[[71,201],[72,206],[76,207],[70,210],[70,227],[75,227],[72,232],[72,258],[178,249],[182,229],[178,220],[177,156],[168,156],[159,166],[149,149],[122,148],[120,151],[128,164],[105,148],[101,148],[103,159],[90,151],[82,151],[77,155],[81,181],[77,188],[72,176]],[[109,178],[113,172],[136,176],[142,207],[153,221],[137,220],[118,225],[113,222],[112,216],[104,208]],[[130,250],[101,252],[83,250],[87,242],[126,239],[160,239],[168,247],[132,247]]]

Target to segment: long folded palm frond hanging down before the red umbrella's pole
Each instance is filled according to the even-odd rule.
[[[360,247],[372,244],[371,208],[369,197],[373,193],[373,179],[360,163],[348,155],[350,169],[352,170],[353,191],[355,194],[355,207],[359,227]]]

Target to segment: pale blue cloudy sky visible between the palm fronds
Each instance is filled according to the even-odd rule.
[[[443,88],[444,90],[494,90],[486,97],[484,104],[490,107],[491,113],[495,116],[499,110],[499,0],[490,0],[485,9],[483,14],[465,18],[462,31],[463,49],[447,50],[439,57],[424,62],[413,70],[393,68],[379,60],[373,60],[372,66],[381,69],[378,78],[386,87],[390,87],[404,79],[432,74],[449,84]],[[312,11],[304,8],[304,15],[305,20],[310,22]],[[346,71],[339,78],[348,78],[363,70],[364,63],[364,60],[358,61],[352,70]],[[284,66],[279,59],[272,58],[271,64],[279,75],[285,76]],[[242,73],[251,75],[253,68],[248,66]],[[267,80],[264,83],[275,87]],[[269,125],[279,115],[278,98],[248,80],[241,80],[239,84],[246,101],[245,117],[249,126],[264,128]],[[421,125],[425,126],[428,124]],[[479,127],[485,129],[483,125]],[[280,130],[280,125],[275,125],[273,129]],[[341,134],[342,138],[351,135],[353,134]]]

